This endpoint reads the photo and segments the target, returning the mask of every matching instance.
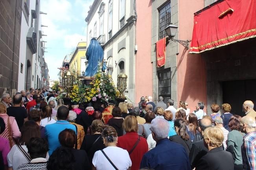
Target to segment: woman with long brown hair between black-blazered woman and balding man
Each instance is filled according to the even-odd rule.
[[[199,133],[197,131],[197,116],[193,113],[188,116],[188,135],[191,141],[194,140],[195,134]]]

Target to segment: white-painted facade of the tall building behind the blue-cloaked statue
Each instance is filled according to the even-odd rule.
[[[104,13],[104,34],[105,34],[105,42],[109,41],[109,33],[108,33],[108,23],[109,23],[109,0],[103,0],[102,2],[105,3],[105,13]],[[87,24],[87,42],[90,42],[90,30],[92,31],[92,37],[94,35],[94,24],[97,21],[97,37],[99,36],[99,11],[100,5],[94,15],[92,16],[92,19]],[[113,0],[113,14],[112,14],[112,37],[118,33],[120,30],[120,16],[119,16],[119,0]],[[131,15],[134,15],[133,12],[131,12],[131,1],[125,0],[125,24],[127,23],[126,20],[130,18]],[[133,28],[132,28],[133,27]],[[129,25],[126,27],[121,33],[118,34],[114,39],[112,39],[111,42],[108,42],[107,45],[104,46],[104,60],[107,61],[107,58],[109,57],[107,52],[112,51],[112,66],[113,66],[113,72],[112,72],[112,80],[115,84],[117,84],[117,76],[119,74],[119,63],[120,61],[124,61],[124,72],[127,74],[127,97],[131,99],[131,101],[134,100],[134,87],[133,83],[135,82],[135,64],[134,62],[131,63],[129,60],[131,57],[134,57],[134,53],[131,51],[134,51],[134,41],[135,41],[135,34],[133,34],[132,29],[134,29],[134,25]],[[132,33],[132,34],[130,34]],[[132,36],[132,37],[130,37]],[[122,42],[125,39],[125,48],[118,51],[118,43]],[[131,56],[131,54],[133,56]],[[133,68],[133,72],[129,71],[131,68]],[[130,75],[131,74],[131,75]],[[131,76],[131,77],[130,77]],[[129,79],[130,78],[130,79]],[[130,82],[132,81],[132,82]],[[131,83],[131,84],[130,84]],[[129,89],[129,87],[132,87]]]

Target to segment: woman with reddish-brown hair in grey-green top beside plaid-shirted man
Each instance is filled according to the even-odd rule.
[[[228,133],[227,151],[233,154],[235,170],[243,169],[243,159],[241,154],[241,146],[243,144],[244,133],[241,132],[241,116],[231,116],[228,127],[231,132]]]

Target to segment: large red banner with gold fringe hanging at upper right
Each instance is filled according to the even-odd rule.
[[[190,53],[256,37],[256,0],[223,0],[195,13]]]

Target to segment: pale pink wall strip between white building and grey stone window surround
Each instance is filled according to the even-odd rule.
[[[136,0],[135,103],[142,96],[153,95],[153,64],[151,63],[151,0]],[[140,10],[138,10],[140,9]]]

